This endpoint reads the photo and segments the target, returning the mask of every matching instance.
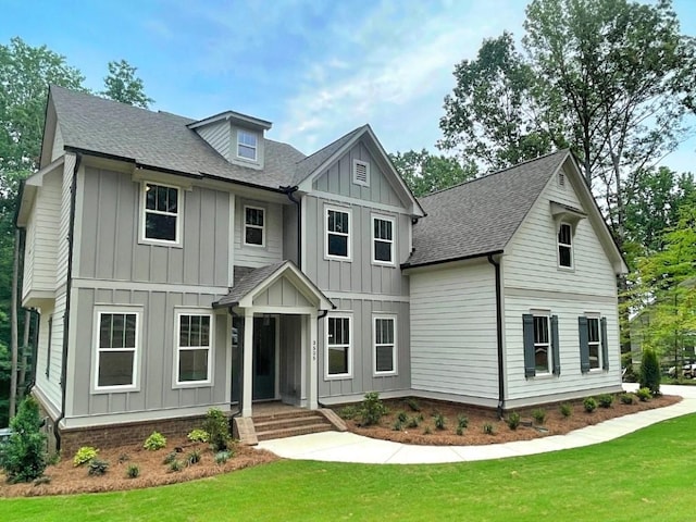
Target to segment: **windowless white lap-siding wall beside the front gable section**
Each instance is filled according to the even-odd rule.
[[[413,389],[497,398],[493,266],[433,270],[410,279]]]

